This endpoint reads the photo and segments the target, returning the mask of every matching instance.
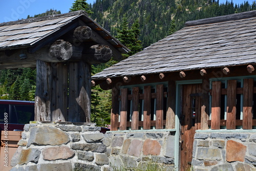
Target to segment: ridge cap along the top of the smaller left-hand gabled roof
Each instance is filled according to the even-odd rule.
[[[32,23],[32,22],[40,22],[40,21],[43,21],[43,20],[56,19],[56,18],[79,15],[79,14],[88,15],[88,13],[86,11],[78,10],[78,11],[68,12],[68,13],[63,13],[63,14],[53,14],[53,15],[46,15],[46,16],[35,17],[35,18],[20,19],[20,20],[16,20],[16,21],[12,21],[12,22],[0,23],[0,27],[1,26],[11,26],[11,25],[17,25],[17,24]]]

